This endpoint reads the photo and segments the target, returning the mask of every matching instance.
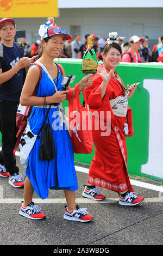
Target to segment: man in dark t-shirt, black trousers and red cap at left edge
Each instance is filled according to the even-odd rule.
[[[10,18],[0,20],[0,131],[2,150],[0,154],[0,176],[8,177],[14,187],[23,186],[18,174],[13,150],[16,143],[16,112],[23,87],[24,68],[30,65],[30,59],[14,42],[15,21]]]

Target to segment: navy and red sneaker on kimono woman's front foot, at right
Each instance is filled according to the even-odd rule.
[[[145,198],[144,197],[137,197],[134,192],[128,191],[126,197],[122,197],[122,194],[118,193],[120,200],[119,204],[127,205],[127,206],[134,206],[140,204]]]

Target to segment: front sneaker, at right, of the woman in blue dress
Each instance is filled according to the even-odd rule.
[[[79,208],[77,205],[77,210],[69,211],[67,205],[65,206],[65,214],[64,219],[68,221],[80,221],[80,222],[88,222],[93,220],[93,216],[90,215],[86,210],[86,208]]]

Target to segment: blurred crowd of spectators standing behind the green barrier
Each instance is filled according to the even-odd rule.
[[[87,47],[87,37],[90,35],[93,37],[93,48],[95,48],[96,54],[102,53],[103,47],[107,42],[104,35],[98,38],[96,34],[85,34],[83,40],[80,40],[80,35],[75,34],[65,42],[61,58],[82,59]],[[122,62],[163,62],[163,36],[159,36],[158,44],[154,45],[152,49],[147,35],[143,36],[143,38],[134,35],[131,36],[129,41],[119,40],[119,45],[123,53]]]

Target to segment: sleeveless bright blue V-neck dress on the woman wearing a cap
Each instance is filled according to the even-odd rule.
[[[62,90],[62,75],[58,69],[58,90]],[[54,79],[57,85],[57,77]],[[42,76],[36,96],[51,96],[55,93],[55,87],[46,72],[42,69]],[[74,168],[73,145],[65,124],[61,126],[58,115],[58,107],[51,108],[48,113],[49,123],[54,138],[56,155],[52,161],[42,161],[39,158],[40,138],[36,139],[33,149],[29,154],[29,162],[26,169],[34,191],[42,198],[48,197],[49,189],[78,190],[76,170]],[[29,118],[29,125],[32,132],[37,135],[44,120],[43,108],[33,107]],[[47,122],[47,120],[46,120]],[[40,133],[41,137],[41,133]]]

